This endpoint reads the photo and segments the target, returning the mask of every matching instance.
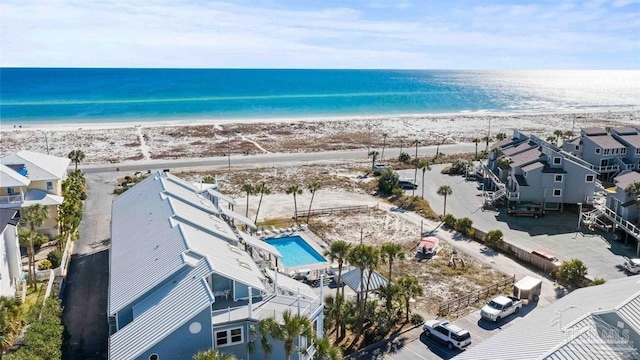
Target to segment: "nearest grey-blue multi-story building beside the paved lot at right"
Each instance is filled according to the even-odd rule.
[[[535,202],[548,210],[590,204],[597,173],[579,159],[536,137],[514,131],[493,147],[488,169],[497,191],[492,201]]]

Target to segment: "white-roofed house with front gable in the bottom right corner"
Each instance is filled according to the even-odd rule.
[[[640,278],[627,277],[575,290],[454,359],[639,359],[639,349]]]

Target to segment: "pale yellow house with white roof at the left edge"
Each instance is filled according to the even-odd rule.
[[[71,160],[32,151],[19,151],[0,157],[0,208],[16,209],[40,204],[49,209],[49,217],[38,232],[53,238],[58,205]]]

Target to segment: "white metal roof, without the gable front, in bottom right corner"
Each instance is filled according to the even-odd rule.
[[[511,359],[599,359],[597,353],[585,357],[580,342],[570,343],[568,330],[580,327],[593,312],[603,312],[619,306],[616,314],[628,325],[638,321],[640,312],[633,309],[640,304],[640,279],[627,277],[607,281],[598,286],[578,289],[546,308],[535,309],[513,326],[501,330],[482,343],[456,356],[456,360]],[[626,313],[631,313],[627,319]],[[586,320],[593,321],[593,320]],[[614,324],[616,325],[616,324]],[[636,330],[638,331],[638,330]],[[562,349],[562,350],[561,350]],[[573,351],[567,351],[573,349]],[[560,350],[556,354],[556,350]],[[624,357],[612,357],[622,359]]]

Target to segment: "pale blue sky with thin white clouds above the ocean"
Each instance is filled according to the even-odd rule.
[[[640,0],[3,0],[0,66],[640,69]]]

